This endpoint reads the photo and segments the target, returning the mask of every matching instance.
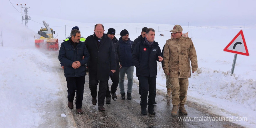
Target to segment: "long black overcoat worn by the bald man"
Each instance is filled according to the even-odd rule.
[[[85,44],[90,53],[88,64],[90,80],[109,80],[110,70],[116,70],[115,48],[112,40],[103,34],[97,46],[99,38],[90,35],[86,38]]]

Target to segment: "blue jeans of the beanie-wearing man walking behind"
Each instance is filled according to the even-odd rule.
[[[120,93],[125,93],[125,87],[124,87],[124,79],[125,79],[125,73],[127,74],[127,93],[131,93],[132,85],[133,85],[133,72],[134,72],[134,66],[130,67],[122,67],[119,72],[119,88]]]

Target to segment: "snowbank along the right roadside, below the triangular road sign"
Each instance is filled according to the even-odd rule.
[[[256,109],[256,81],[244,79],[241,75],[230,72],[198,68],[191,74],[189,90],[201,95],[209,95],[237,104],[246,108]]]

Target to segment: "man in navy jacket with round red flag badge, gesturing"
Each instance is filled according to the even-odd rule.
[[[136,76],[141,82],[141,114],[156,114],[154,102],[156,98],[157,61],[163,61],[161,49],[154,41],[155,31],[152,28],[146,30],[146,37],[138,42],[132,54],[132,60],[136,67]],[[147,93],[148,101],[147,101]]]

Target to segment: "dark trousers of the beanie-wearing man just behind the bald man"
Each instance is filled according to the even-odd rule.
[[[118,87],[118,82],[119,82],[119,64],[116,67],[115,73],[113,73],[113,76],[110,77],[112,80],[112,85],[111,85],[111,92],[109,91],[109,83],[107,83],[107,92],[106,92],[106,97],[111,97],[110,93],[115,93],[116,88]]]

